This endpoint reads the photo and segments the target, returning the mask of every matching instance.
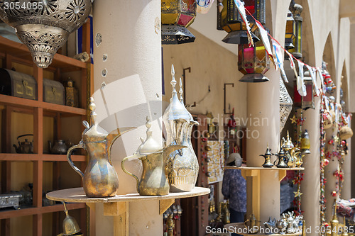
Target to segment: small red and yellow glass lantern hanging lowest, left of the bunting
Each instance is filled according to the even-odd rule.
[[[265,50],[262,41],[254,44],[254,47],[248,45],[239,45],[238,50],[238,69],[244,74],[239,82],[268,82],[268,77],[263,74],[270,69],[270,58]]]

